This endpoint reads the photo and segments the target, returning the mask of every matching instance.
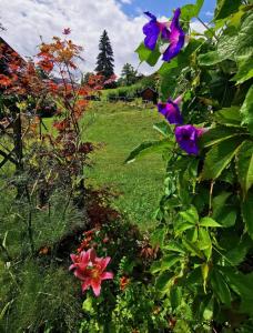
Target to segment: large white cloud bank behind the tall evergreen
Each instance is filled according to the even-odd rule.
[[[91,71],[105,29],[114,50],[115,72],[120,73],[125,62],[138,67],[133,50],[143,39],[146,19],[129,18],[115,0],[1,0],[0,12],[4,12],[2,23],[8,29],[2,37],[24,57],[37,53],[40,36],[49,41],[70,28],[73,42],[84,48],[82,70]]]

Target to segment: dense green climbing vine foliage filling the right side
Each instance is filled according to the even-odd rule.
[[[198,17],[202,4],[185,6],[182,19]],[[156,212],[162,236],[154,232],[161,256],[151,273],[175,317],[183,303],[194,313],[181,332],[217,326],[247,332],[252,321],[251,9],[249,1],[217,0],[213,27],[201,38],[191,36],[179,57],[159,70],[162,99],[183,93],[184,123],[206,129],[200,154],[188,157],[173,131],[159,127],[160,142],[168,138],[172,149],[165,154],[165,192]],[[130,157],[141,157],[141,148]]]

